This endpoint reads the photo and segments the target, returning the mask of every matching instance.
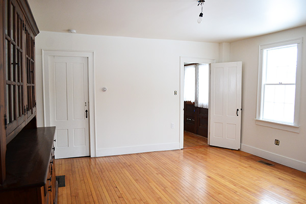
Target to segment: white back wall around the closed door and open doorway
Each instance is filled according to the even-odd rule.
[[[97,156],[179,148],[180,56],[219,57],[218,43],[42,31],[36,37],[38,126],[43,126],[41,49],[95,52]]]

